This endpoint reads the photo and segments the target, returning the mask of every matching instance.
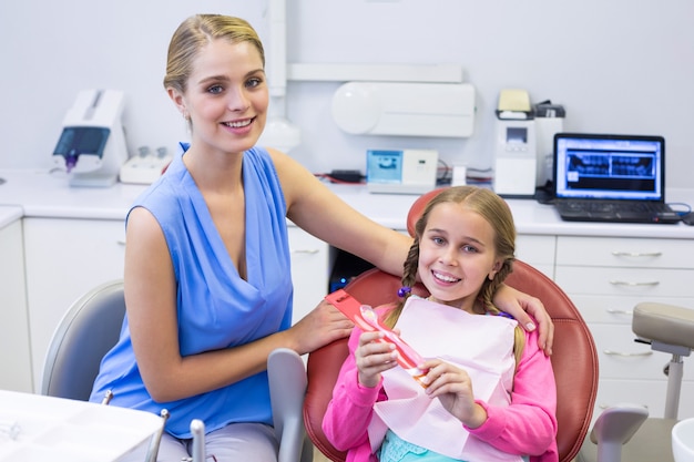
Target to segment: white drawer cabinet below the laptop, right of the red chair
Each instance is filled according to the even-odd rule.
[[[559,236],[555,281],[571,297],[595,339],[600,359],[596,405],[645,404],[662,417],[670,355],[634,342],[632,309],[641,301],[694,308],[690,239]],[[684,359],[680,417],[694,417],[694,363]]]

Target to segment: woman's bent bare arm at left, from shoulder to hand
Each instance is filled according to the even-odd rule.
[[[156,401],[195,396],[261,372],[275,348],[305,353],[351,331],[351,322],[325,302],[283,332],[182,357],[173,265],[162,229],[149,211],[137,207],[130,213],[126,239],[124,288],[130,332],[143,381]]]

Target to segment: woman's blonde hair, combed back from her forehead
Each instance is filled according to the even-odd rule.
[[[216,39],[224,39],[229,43],[252,43],[261,53],[265,66],[263,43],[247,21],[222,14],[195,14],[183,21],[171,38],[164,88],[185,93],[193,71],[193,60],[203,47]]]

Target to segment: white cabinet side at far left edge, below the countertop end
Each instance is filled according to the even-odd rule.
[[[21,220],[0,229],[0,389],[32,391]]]

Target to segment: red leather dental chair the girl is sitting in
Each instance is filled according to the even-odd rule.
[[[410,234],[423,206],[436,194],[437,191],[428,193],[414,204],[408,216]],[[554,321],[552,366],[558,394],[557,442],[560,461],[571,461],[585,439],[598,392],[598,355],[593,338],[569,297],[539,270],[523,261],[516,261],[513,273],[506,283],[542,300]],[[356,277],[345,290],[364,304],[379,306],[395,301],[400,285],[399,277],[370,269]],[[416,287],[415,292],[428,295],[423,286]],[[343,339],[310,353],[307,363],[306,431],[314,445],[335,462],[343,462],[346,453],[337,451],[326,440],[322,422],[347,353],[347,339]]]

